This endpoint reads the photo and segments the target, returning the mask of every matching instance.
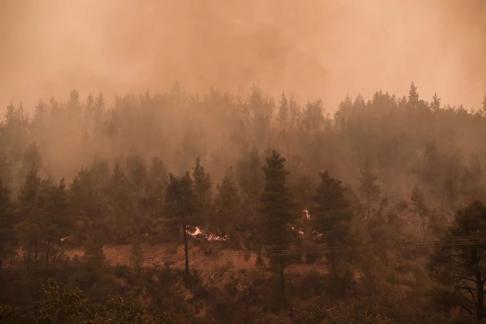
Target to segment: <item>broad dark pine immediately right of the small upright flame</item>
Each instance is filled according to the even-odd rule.
[[[345,245],[351,227],[352,213],[350,203],[342,186],[342,181],[329,175],[328,171],[320,173],[322,182],[315,189],[313,200],[315,207],[311,208],[310,224],[312,229],[323,234],[328,247]],[[347,242],[349,245],[349,242]],[[331,269],[334,271],[339,255],[331,253]]]

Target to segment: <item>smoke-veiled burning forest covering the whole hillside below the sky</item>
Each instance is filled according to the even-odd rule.
[[[0,322],[486,322],[479,107],[414,83],[11,102]]]

